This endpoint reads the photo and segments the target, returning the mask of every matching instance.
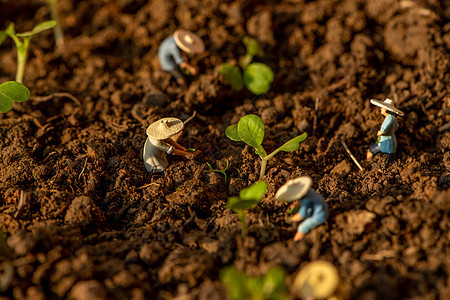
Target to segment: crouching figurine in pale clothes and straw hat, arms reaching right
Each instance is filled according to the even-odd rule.
[[[167,154],[181,155],[193,159],[199,150],[189,152],[176,142],[172,136],[183,130],[184,123],[177,118],[163,118],[147,127],[147,140],[144,145],[144,165],[148,172],[162,173],[169,163]]]

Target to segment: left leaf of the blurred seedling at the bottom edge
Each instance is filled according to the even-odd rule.
[[[241,300],[251,296],[247,288],[247,276],[239,272],[234,266],[223,268],[219,277],[220,281],[228,288],[230,300]]]

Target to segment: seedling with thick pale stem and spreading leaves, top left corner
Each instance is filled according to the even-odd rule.
[[[36,25],[31,31],[24,33],[16,33],[14,23],[10,23],[5,31],[0,31],[0,44],[3,43],[6,36],[9,36],[17,48],[17,73],[16,81],[23,81],[23,73],[28,58],[28,47],[30,46],[31,37],[41,31],[53,28],[57,24],[56,21],[45,21]]]

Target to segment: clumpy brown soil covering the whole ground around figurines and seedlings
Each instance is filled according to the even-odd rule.
[[[442,0],[60,1],[65,44],[51,30],[31,40],[31,99],[0,115],[0,229],[15,268],[0,299],[225,299],[219,272],[286,272],[288,296],[308,262],[339,270],[350,299],[450,295],[450,4]],[[0,1],[17,32],[49,19],[45,1]],[[159,44],[177,28],[207,53],[177,86]],[[275,80],[268,94],[234,92],[220,65],[256,38]],[[16,52],[0,46],[0,82]],[[67,93],[67,94],[61,94]],[[396,160],[365,161],[383,116],[369,99],[394,99]],[[318,99],[318,100],[316,100]],[[316,101],[318,109],[315,109]],[[165,177],[146,172],[145,129],[187,119]],[[246,114],[265,123],[268,152],[303,132],[298,150],[269,161],[267,192],[242,238],[228,197],[258,180],[253,149],[225,128]],[[314,126],[314,120],[316,126]],[[360,161],[360,171],[341,139]],[[228,180],[205,172],[207,162]],[[328,203],[327,223],[294,242],[287,180],[308,175]],[[18,212],[20,196],[28,200]],[[0,269],[0,274],[3,267]]]

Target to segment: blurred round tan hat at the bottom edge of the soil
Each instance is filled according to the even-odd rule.
[[[339,273],[335,266],[324,260],[306,265],[295,277],[295,294],[302,299],[327,299],[339,286]]]

